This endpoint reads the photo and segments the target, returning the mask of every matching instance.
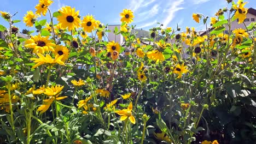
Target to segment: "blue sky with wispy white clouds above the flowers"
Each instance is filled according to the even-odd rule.
[[[109,0],[109,1],[86,1],[86,0],[53,0],[54,3],[50,6],[51,11],[57,11],[65,5],[75,7],[79,10],[80,16],[87,14],[94,15],[96,20],[109,25],[120,24],[119,13],[123,9],[131,9],[134,12],[135,18],[132,25],[136,25],[139,29],[148,30],[149,28],[159,26],[156,24],[160,22],[164,27],[176,28],[177,23],[182,31],[185,27],[195,27],[197,31],[205,29],[201,23],[196,23],[192,19],[193,13],[201,13],[206,16],[212,17],[219,8],[227,6],[225,0]],[[238,0],[235,0],[238,1]],[[256,8],[255,0],[247,0],[246,7]],[[26,11],[36,11],[34,7],[38,4],[37,0],[1,0],[0,10],[18,14],[14,19],[23,20]],[[49,13],[46,17],[41,16],[39,19],[48,19]],[[7,26],[8,23],[0,19],[0,24]],[[29,29],[25,23],[19,22],[15,26],[20,29]]]

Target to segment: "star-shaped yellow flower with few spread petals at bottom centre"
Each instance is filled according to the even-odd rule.
[[[115,111],[115,113],[118,113],[118,115],[121,116],[120,118],[121,121],[125,121],[127,118],[129,118],[131,123],[133,124],[136,123],[135,117],[132,116],[132,102],[129,104],[127,109],[117,110]]]

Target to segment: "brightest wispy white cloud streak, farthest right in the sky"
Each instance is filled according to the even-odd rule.
[[[181,4],[183,4],[183,2],[184,0],[176,0],[174,2],[170,2],[167,5],[169,8],[164,10],[164,12],[166,12],[166,17],[164,17],[164,21],[162,22],[164,28],[167,27],[167,25],[173,20],[176,11],[184,9],[183,7],[179,7]]]

